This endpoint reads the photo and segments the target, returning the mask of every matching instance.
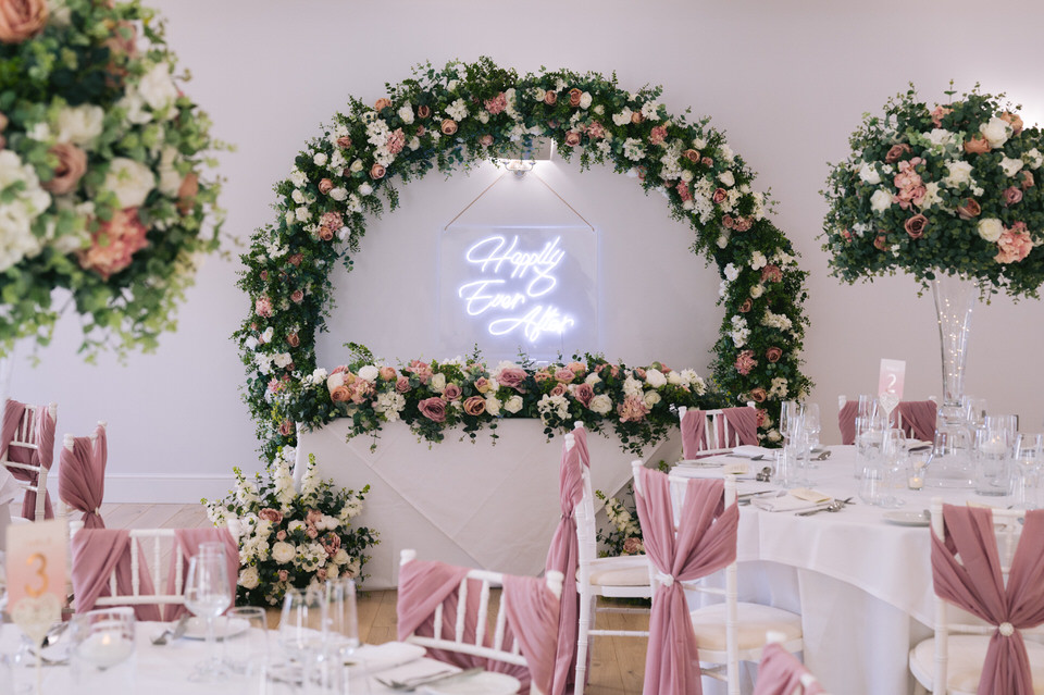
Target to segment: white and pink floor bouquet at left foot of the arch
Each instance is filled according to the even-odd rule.
[[[236,487],[224,499],[202,500],[214,525],[238,534],[236,601],[277,606],[290,586],[304,588],[337,576],[361,576],[375,532],[352,528],[370,486],[359,493],[334,487],[315,473],[309,455],[301,489],[294,485],[294,449],[282,449],[265,475],[252,481],[235,469]]]

